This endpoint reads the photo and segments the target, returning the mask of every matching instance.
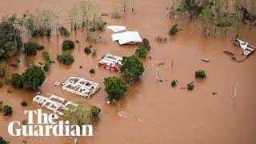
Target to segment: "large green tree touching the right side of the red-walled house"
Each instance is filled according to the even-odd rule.
[[[144,72],[144,65],[136,56],[123,57],[120,73],[125,74],[128,82],[134,84]]]

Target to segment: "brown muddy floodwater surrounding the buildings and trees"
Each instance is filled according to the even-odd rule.
[[[94,0],[102,11],[109,14],[105,17],[108,25],[127,26],[128,30],[138,30],[142,38],[148,38],[152,49],[149,55],[152,59],[142,60],[145,72],[141,81],[134,86],[129,86],[126,95],[119,101],[118,106],[109,106],[104,92],[103,78],[115,74],[99,69],[97,64],[102,54],[110,53],[120,56],[134,54],[136,46],[118,46],[111,42],[112,31],[106,30],[102,34],[104,42],[94,45],[98,50],[96,57],[83,52],[89,43],[84,41],[82,32],[72,33],[69,39],[80,41],[76,44],[72,54],[74,63],[63,66],[56,60],[57,54],[62,52],[61,44],[67,38],[36,38],[35,41],[43,44],[55,64],[46,72],[46,81],[38,91],[43,94],[56,94],[71,102],[85,101],[102,109],[100,119],[94,126],[94,137],[80,138],[80,143],[256,143],[256,55],[242,63],[233,62],[223,54],[229,50],[236,54],[242,51],[233,45],[233,34],[206,36],[194,22],[180,22],[178,19],[169,19],[166,14],[167,2],[165,0],[140,0],[134,13],[123,14],[118,20],[110,18],[113,2],[110,0]],[[0,2],[0,14],[21,14],[25,10],[37,8],[50,8],[54,4],[62,3],[65,10],[72,1],[57,2],[54,0],[8,0]],[[174,37],[168,36],[171,25],[178,23],[182,31]],[[158,35],[165,36],[165,44],[158,44],[154,38]],[[244,27],[242,39],[256,46],[256,29]],[[6,78],[14,72],[22,73],[26,70],[24,56],[19,54],[21,66],[8,67]],[[34,62],[42,62],[42,51],[36,57],[31,57]],[[202,62],[200,58],[210,58],[210,62]],[[14,59],[14,58],[13,58]],[[8,63],[13,60],[10,58]],[[174,59],[174,64],[171,66]],[[165,64],[159,66],[160,62]],[[79,66],[82,69],[79,69]],[[96,74],[90,75],[90,68]],[[206,70],[207,78],[197,80],[194,71]],[[164,79],[156,82],[156,74]],[[99,82],[101,90],[91,98],[81,98],[74,94],[63,93],[60,87],[54,86],[54,81],[64,81],[66,78],[78,75],[91,81]],[[178,79],[178,86],[172,88],[170,81]],[[167,80],[167,81],[166,81]],[[3,81],[3,80],[2,80]],[[182,90],[186,83],[194,81],[193,91]],[[238,83],[237,98],[234,101],[234,87]],[[12,94],[7,94],[12,90]],[[73,143],[74,138],[64,137],[12,137],[7,133],[7,125],[11,121],[26,119],[24,110],[40,108],[32,102],[34,94],[38,91],[15,90],[11,86],[0,89],[0,99],[4,104],[13,106],[14,113],[10,117],[0,117],[0,135],[12,143]],[[212,95],[212,92],[218,92]],[[26,100],[29,106],[22,107],[20,102]],[[44,110],[50,113],[50,111]]]

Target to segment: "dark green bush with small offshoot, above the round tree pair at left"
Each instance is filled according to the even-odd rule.
[[[37,50],[44,49],[44,46],[39,45],[37,42],[26,42],[24,44],[24,52],[28,55],[36,55]]]

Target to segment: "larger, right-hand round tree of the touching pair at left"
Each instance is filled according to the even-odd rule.
[[[46,76],[43,70],[38,66],[29,67],[23,74],[24,86],[30,90],[36,90],[45,81]]]

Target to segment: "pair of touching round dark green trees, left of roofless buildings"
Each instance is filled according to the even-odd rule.
[[[45,81],[44,71],[39,66],[30,66],[23,74],[12,74],[9,80],[10,84],[16,89],[26,87],[30,90],[36,90]]]

